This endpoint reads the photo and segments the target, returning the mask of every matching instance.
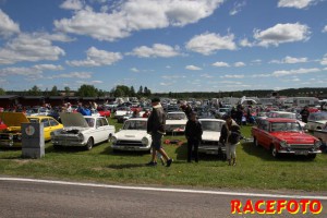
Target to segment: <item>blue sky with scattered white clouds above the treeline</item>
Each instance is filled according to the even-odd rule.
[[[327,0],[0,0],[0,87],[326,87]]]

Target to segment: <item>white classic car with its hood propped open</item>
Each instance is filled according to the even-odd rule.
[[[114,126],[104,117],[60,113],[63,129],[51,133],[56,148],[61,146],[84,146],[92,149],[95,144],[109,142],[114,135]]]

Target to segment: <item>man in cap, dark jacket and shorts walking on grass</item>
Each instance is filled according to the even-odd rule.
[[[170,167],[172,159],[168,157],[165,149],[161,147],[161,138],[165,135],[166,113],[160,104],[159,98],[152,99],[153,112],[147,120],[147,132],[153,137],[152,148],[152,160],[147,166],[157,166],[157,153],[159,153],[166,160],[166,167]]]

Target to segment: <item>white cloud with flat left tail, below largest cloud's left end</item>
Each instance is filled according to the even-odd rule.
[[[109,52],[105,50],[98,50],[95,47],[90,47],[86,51],[86,60],[81,61],[66,61],[69,65],[73,66],[100,66],[100,65],[111,65],[122,59],[120,52]]]

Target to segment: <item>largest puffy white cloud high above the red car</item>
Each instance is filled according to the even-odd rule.
[[[308,26],[300,23],[277,24],[265,31],[254,31],[254,38],[258,46],[269,47],[279,44],[305,41],[310,38]]]

